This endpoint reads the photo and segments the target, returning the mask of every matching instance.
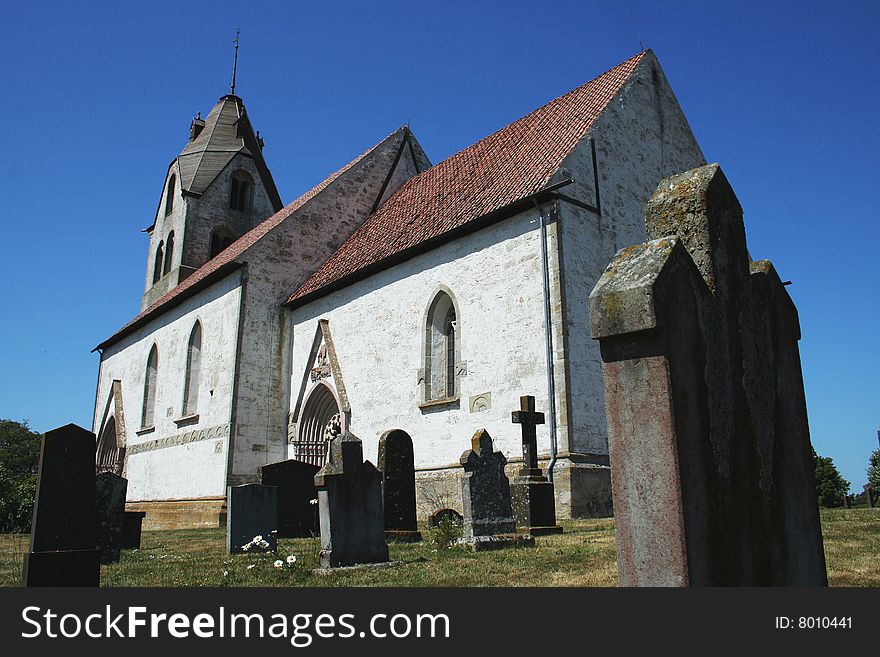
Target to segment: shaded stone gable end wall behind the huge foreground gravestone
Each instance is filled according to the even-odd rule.
[[[671,88],[649,55],[598,118],[595,136],[602,216],[560,203],[571,452],[608,454],[598,343],[588,299],[614,254],[645,240],[644,208],[660,180],[705,163]],[[575,184],[560,191],[596,203],[589,140],[563,163]],[[561,228],[560,228],[561,227]]]

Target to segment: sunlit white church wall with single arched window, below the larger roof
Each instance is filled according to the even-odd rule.
[[[379,436],[389,429],[410,434],[423,471],[457,466],[480,428],[508,457],[521,456],[519,427],[510,421],[520,395],[534,395],[547,410],[540,253],[537,212],[524,212],[292,310],[291,412],[308,397],[304,373],[318,320],[327,319],[350,429],[365,458],[375,463]],[[420,409],[425,317],[440,286],[458,305],[456,339],[467,374],[457,406]],[[478,396],[490,402],[475,412],[470,401]],[[546,425],[538,446],[549,449]]]

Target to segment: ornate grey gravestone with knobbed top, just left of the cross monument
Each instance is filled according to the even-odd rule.
[[[459,462],[465,472],[461,479],[463,539],[515,532],[510,482],[504,474],[507,459],[494,451],[488,431],[480,429],[474,434],[471,448],[461,455]]]

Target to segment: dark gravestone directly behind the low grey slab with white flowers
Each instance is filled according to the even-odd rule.
[[[288,459],[260,468],[265,486],[278,489],[278,536],[284,538],[316,536],[318,497],[315,475],[321,468],[311,463]]]

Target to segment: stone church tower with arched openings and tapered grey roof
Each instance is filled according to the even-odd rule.
[[[281,198],[244,102],[230,93],[193,119],[189,142],[168,167],[153,225],[141,310],[266,217]]]

